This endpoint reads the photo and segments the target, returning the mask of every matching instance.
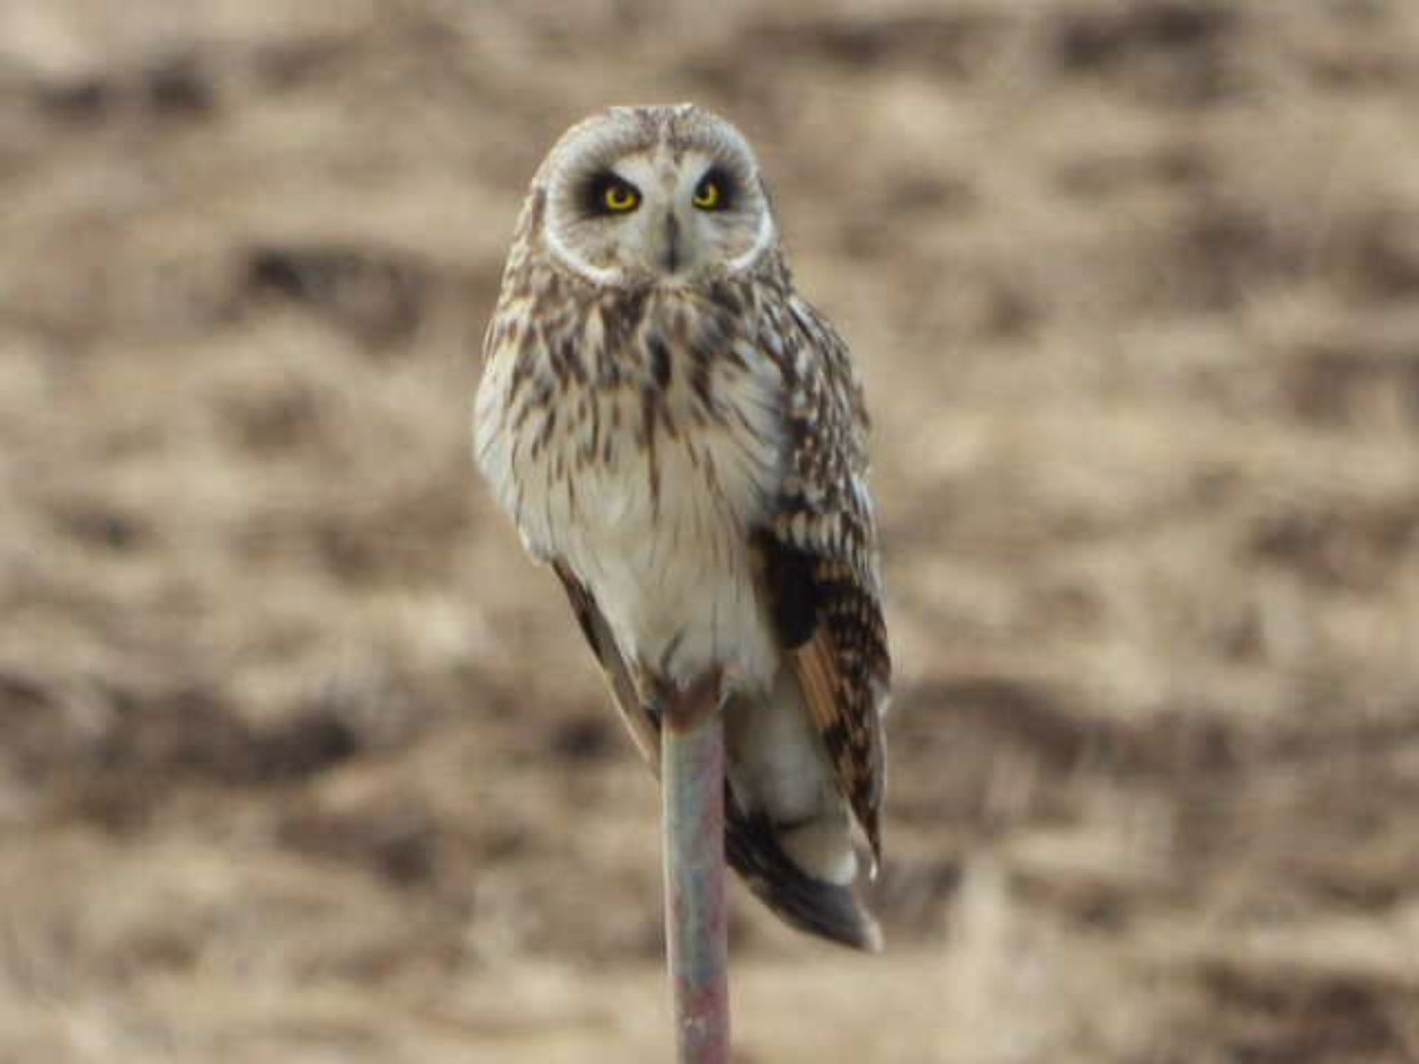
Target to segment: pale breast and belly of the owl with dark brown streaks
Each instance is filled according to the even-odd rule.
[[[749,531],[783,475],[785,384],[752,340],[651,297],[631,328],[593,311],[570,336],[509,336],[480,390],[480,464],[528,549],[677,684],[721,667],[765,691],[779,667]]]

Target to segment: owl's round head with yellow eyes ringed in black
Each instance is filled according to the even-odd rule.
[[[599,285],[732,275],[778,243],[749,143],[692,104],[617,106],[579,122],[534,192],[546,250]]]

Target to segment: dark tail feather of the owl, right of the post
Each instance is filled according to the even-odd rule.
[[[868,953],[881,951],[881,928],[853,888],[807,875],[783,851],[772,821],[739,809],[729,787],[725,817],[725,857],[759,901],[800,931]]]

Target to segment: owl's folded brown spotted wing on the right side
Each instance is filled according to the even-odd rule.
[[[796,297],[779,322],[788,470],[755,535],[766,600],[839,792],[881,855],[891,678],[867,491],[867,409],[847,345]]]

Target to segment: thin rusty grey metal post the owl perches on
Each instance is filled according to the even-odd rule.
[[[719,677],[670,694],[660,728],[666,956],[680,1064],[729,1060]]]

